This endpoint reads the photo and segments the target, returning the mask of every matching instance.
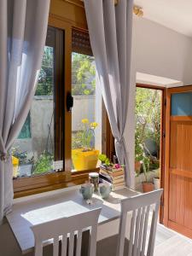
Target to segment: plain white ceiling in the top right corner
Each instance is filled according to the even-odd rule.
[[[192,0],[134,0],[143,8],[143,18],[192,37]]]

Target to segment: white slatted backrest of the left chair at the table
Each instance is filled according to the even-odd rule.
[[[97,222],[100,212],[101,208],[98,208],[68,218],[58,218],[33,225],[31,229],[35,237],[35,256],[43,255],[44,241],[50,239],[53,241],[53,256],[80,256],[82,232],[86,229],[90,230],[90,242],[87,245],[89,256],[95,256]],[[76,249],[74,249],[74,236],[77,236]],[[59,241],[61,241],[61,254],[59,254]]]

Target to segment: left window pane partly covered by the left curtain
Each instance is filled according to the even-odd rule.
[[[44,47],[32,108],[13,146],[14,177],[51,172],[54,160],[54,47]]]

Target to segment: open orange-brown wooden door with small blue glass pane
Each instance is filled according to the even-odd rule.
[[[192,238],[192,86],[167,90],[164,224]]]

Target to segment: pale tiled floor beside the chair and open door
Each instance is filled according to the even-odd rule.
[[[192,256],[192,240],[158,224],[154,256]]]

